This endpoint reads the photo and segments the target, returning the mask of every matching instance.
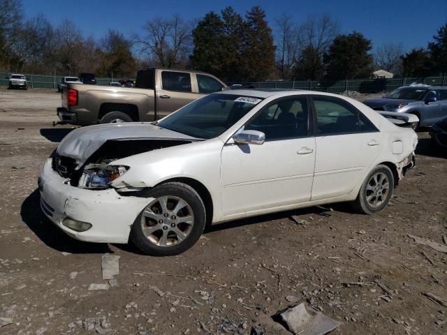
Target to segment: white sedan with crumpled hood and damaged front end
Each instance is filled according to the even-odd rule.
[[[417,142],[351,98],[220,91],[152,124],[75,129],[43,166],[41,207],[75,239],[175,255],[207,224],[329,202],[381,211]]]

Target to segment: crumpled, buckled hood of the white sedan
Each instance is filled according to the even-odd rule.
[[[80,168],[108,140],[198,140],[196,137],[154,126],[149,122],[100,124],[77,128],[57,147],[57,154],[76,160]]]

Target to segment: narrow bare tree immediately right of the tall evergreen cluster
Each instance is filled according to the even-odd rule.
[[[278,45],[275,65],[282,79],[290,79],[291,68],[298,57],[298,27],[287,13],[277,18],[276,25]]]

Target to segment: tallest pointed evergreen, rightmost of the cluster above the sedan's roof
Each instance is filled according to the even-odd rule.
[[[254,6],[245,15],[246,33],[244,43],[244,67],[241,71],[247,80],[268,79],[274,69],[272,29],[265,20],[265,12],[260,6]]]

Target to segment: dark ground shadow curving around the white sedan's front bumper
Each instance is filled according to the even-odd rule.
[[[41,211],[38,189],[28,195],[20,208],[22,221],[47,246],[67,253],[112,253],[108,244],[88,243],[72,239],[59,230]]]

